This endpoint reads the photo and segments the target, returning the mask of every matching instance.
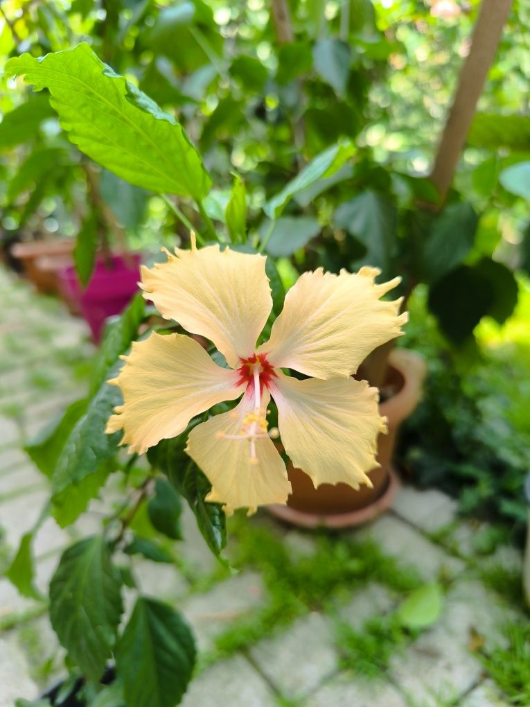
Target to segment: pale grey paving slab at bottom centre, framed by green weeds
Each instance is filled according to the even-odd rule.
[[[337,652],[328,619],[312,612],[275,638],[266,638],[250,650],[259,670],[285,697],[311,694],[336,672]]]

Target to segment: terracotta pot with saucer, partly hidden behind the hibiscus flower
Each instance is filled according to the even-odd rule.
[[[420,400],[424,375],[425,362],[419,354],[405,349],[391,351],[383,388],[390,395],[379,405],[381,414],[388,419],[388,434],[379,435],[377,461],[381,466],[370,472],[372,489],[361,486],[355,491],[347,484],[322,484],[315,489],[307,474],[289,464],[287,471],[293,493],[287,506],[269,506],[269,511],[302,527],[350,527],[387,510],[399,484],[391,466],[396,435],[401,422]]]

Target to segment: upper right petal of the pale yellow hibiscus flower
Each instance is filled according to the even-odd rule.
[[[377,285],[376,268],[351,274],[306,272],[285,296],[271,338],[259,347],[272,366],[294,368],[314,378],[350,376],[370,351],[399,337],[408,319],[399,314],[401,299],[379,298],[399,278]]]

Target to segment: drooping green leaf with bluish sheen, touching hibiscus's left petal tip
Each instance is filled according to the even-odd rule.
[[[120,361],[108,378],[114,378],[121,366]],[[85,510],[107,479],[109,462],[117,453],[122,434],[107,435],[105,428],[114,407],[121,402],[119,388],[103,383],[64,445],[52,477],[52,515],[61,527]]]

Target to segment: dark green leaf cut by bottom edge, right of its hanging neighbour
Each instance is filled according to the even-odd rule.
[[[116,649],[128,707],[174,707],[192,677],[195,642],[167,604],[139,597]]]

